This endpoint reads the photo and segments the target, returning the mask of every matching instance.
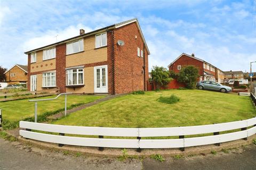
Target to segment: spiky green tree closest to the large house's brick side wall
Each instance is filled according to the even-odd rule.
[[[169,71],[164,67],[153,66],[151,77],[152,80],[156,82],[157,89],[160,86],[166,86],[172,81],[172,78],[169,77]]]

